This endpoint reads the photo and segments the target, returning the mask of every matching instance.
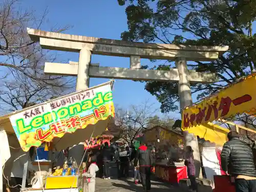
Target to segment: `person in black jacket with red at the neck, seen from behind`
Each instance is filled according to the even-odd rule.
[[[137,150],[136,157],[134,160],[134,167],[137,166],[139,161],[139,171],[143,190],[150,191],[151,189],[151,166],[153,164],[152,153],[148,150],[147,146],[143,141],[140,143],[140,147]]]

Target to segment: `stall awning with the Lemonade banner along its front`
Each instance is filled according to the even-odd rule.
[[[15,133],[20,146],[52,142],[57,150],[66,149],[105,131],[115,116],[113,81],[72,93],[0,117],[7,133]]]

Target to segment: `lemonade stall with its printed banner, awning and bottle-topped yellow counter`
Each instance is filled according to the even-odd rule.
[[[47,143],[46,146],[52,150],[66,150],[67,147],[84,141],[84,138],[91,140],[102,134],[110,119],[115,116],[112,87],[113,81],[106,82],[0,117],[4,131],[1,137],[8,136],[5,139],[7,147],[2,145],[0,151],[2,162],[6,162],[10,156],[3,152],[8,151],[10,136],[14,134],[14,140],[18,141],[24,152],[43,143]],[[25,187],[26,163],[22,190],[83,191],[82,162],[76,162],[75,159],[72,161],[72,167],[65,161],[63,167],[57,167],[55,172],[51,171],[51,166],[43,167],[38,161],[37,182],[30,188]]]

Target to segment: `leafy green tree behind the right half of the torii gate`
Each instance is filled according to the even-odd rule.
[[[198,94],[198,99],[217,92],[225,84],[255,70],[256,38],[253,25],[256,1],[119,0],[118,3],[126,6],[128,31],[121,34],[123,40],[229,46],[229,51],[215,61],[188,63],[189,69],[215,72],[220,78],[219,82],[213,84],[192,84],[191,92]],[[151,69],[170,68],[174,68],[172,61]],[[178,109],[176,83],[149,81],[146,82],[145,89],[157,97],[162,112]]]

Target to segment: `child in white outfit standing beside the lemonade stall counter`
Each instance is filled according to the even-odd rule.
[[[96,159],[90,156],[89,162],[91,162],[88,172],[83,173],[83,177],[86,177],[87,182],[84,183],[87,185],[87,192],[95,192],[95,177],[96,177],[96,172],[99,170],[99,167],[96,165]]]

